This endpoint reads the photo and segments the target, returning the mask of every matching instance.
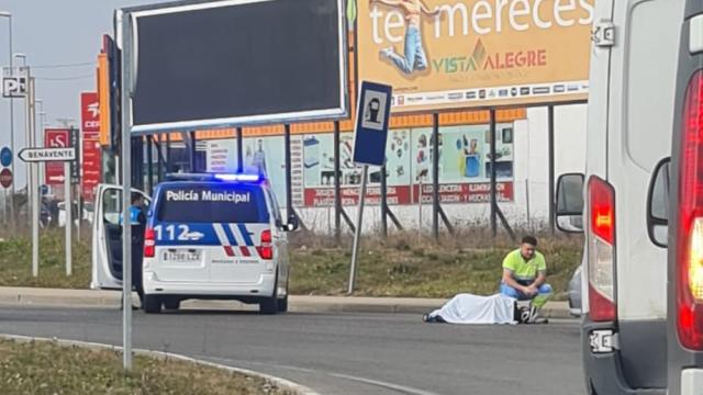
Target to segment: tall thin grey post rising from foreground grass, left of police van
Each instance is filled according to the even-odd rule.
[[[121,25],[122,50],[122,218],[127,224],[132,204],[132,19],[125,15]],[[125,371],[132,371],[132,226],[122,226],[122,357]]]

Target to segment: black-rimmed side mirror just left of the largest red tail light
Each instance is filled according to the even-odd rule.
[[[666,248],[669,236],[669,167],[665,158],[655,168],[647,194],[647,233],[655,245]]]

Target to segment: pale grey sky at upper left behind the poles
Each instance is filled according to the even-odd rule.
[[[12,49],[15,54],[26,55],[26,63],[36,78],[36,98],[43,101],[46,122],[54,126],[60,125],[57,120],[72,119],[74,125],[79,124],[80,92],[96,91],[101,37],[105,33],[112,34],[113,11],[158,2],[165,1],[0,0],[0,11],[12,13]],[[0,18],[0,66],[9,66],[9,52],[8,19]],[[23,100],[15,100],[15,151],[25,147],[24,117]],[[9,120],[9,99],[0,98],[2,146],[10,145]],[[24,167],[15,163],[15,172],[18,185],[23,184]]]

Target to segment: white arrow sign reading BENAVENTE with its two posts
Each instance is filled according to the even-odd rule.
[[[76,148],[69,147],[58,147],[58,148],[24,148],[18,155],[20,159],[27,163],[33,162],[64,162],[64,174],[69,174],[71,162],[76,160]],[[0,174],[1,178],[1,174]],[[70,232],[71,232],[71,200],[70,200],[70,177],[64,176],[64,188],[66,191],[65,196],[65,212],[66,212],[66,224],[64,228],[66,229],[66,275],[71,275],[72,264],[71,264],[71,245],[70,245]],[[35,193],[38,192],[35,191]],[[38,210],[38,207],[37,207]],[[38,218],[35,218],[38,219]],[[37,224],[32,224],[32,226],[37,226]],[[32,234],[33,240],[32,244],[34,246],[32,252],[32,271],[34,276],[38,275],[38,233]]]

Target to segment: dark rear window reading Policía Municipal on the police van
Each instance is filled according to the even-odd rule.
[[[156,218],[174,223],[268,223],[264,196],[258,185],[165,187]]]

